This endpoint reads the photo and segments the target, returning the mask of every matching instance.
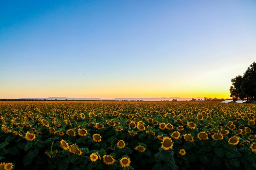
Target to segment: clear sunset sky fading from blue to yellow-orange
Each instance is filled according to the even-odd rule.
[[[0,0],[0,98],[230,96],[255,0]]]

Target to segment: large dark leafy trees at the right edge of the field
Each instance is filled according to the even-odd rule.
[[[247,100],[248,103],[256,103],[256,63],[253,62],[244,72],[231,79],[230,97],[233,101],[239,98]]]

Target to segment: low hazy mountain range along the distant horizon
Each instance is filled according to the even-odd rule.
[[[195,97],[196,99],[203,99],[203,97]],[[101,98],[94,98],[94,97],[45,97],[45,98],[21,98],[21,99],[37,99],[37,100],[144,100],[144,101],[161,101],[161,100],[172,100],[177,99],[178,101],[181,100],[192,100],[192,98],[182,98],[182,97],[140,97],[140,98],[114,98],[114,99],[101,99]]]

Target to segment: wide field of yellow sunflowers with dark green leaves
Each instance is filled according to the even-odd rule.
[[[0,170],[255,170],[256,106],[0,102]]]

